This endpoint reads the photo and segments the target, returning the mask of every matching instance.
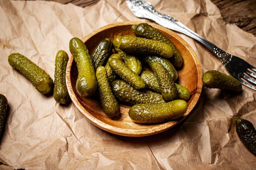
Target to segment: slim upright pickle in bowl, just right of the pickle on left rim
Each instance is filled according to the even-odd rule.
[[[101,107],[108,117],[115,117],[120,114],[119,104],[112,93],[106,68],[99,66],[96,70],[96,78],[98,82],[98,91]]]

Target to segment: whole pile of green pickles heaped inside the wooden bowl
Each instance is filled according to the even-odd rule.
[[[131,29],[135,36],[101,40],[91,55],[82,40],[70,40],[78,69],[76,91],[83,97],[98,93],[101,107],[110,118],[120,114],[119,102],[132,104],[129,116],[139,124],[181,117],[191,93],[175,83],[176,68],[183,64],[180,52],[149,24],[133,25]]]

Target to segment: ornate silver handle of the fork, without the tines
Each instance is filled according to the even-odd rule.
[[[198,42],[200,42],[204,46],[206,46],[208,49],[213,51],[213,53],[215,53],[219,57],[219,59],[221,60],[221,62],[224,65],[226,65],[231,60],[231,57],[232,57],[231,54],[218,48],[216,45],[209,42],[202,36],[198,35],[197,33],[192,31],[191,29],[189,29],[184,24],[177,21],[175,18],[171,17],[170,15],[165,15],[165,14],[157,12],[149,2],[135,0],[133,2],[133,4],[135,4],[135,6],[137,8],[143,8],[145,10],[143,14],[141,13],[141,15],[144,15],[143,18],[148,18],[149,20],[153,20],[154,22],[156,22],[159,25],[162,25],[162,26],[164,26],[168,29],[171,29],[173,31],[183,33],[183,34],[197,40]]]

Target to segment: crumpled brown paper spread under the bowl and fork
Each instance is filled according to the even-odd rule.
[[[210,0],[148,0],[221,49],[256,66],[256,38],[226,24]],[[235,117],[256,126],[256,92],[234,95],[203,87],[197,108],[171,130],[149,137],[123,137],[92,125],[72,102],[62,106],[42,95],[7,62],[21,53],[54,77],[55,55],[73,37],[101,26],[136,20],[125,0],[100,0],[85,8],[49,1],[0,2],[0,93],[9,104],[0,169],[13,170],[251,170],[256,157],[236,134]],[[195,50],[203,71],[227,73],[204,46],[178,33]]]

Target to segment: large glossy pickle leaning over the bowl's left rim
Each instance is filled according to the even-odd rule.
[[[70,53],[74,56],[78,70],[76,91],[82,97],[90,97],[97,90],[97,79],[92,58],[87,47],[79,38],[72,38],[69,43],[69,48]]]

